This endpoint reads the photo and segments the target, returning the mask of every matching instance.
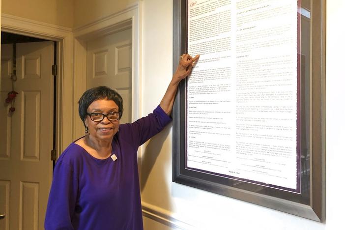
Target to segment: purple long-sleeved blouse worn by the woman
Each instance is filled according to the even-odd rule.
[[[46,230],[142,230],[137,151],[171,118],[158,106],[152,114],[121,124],[112,154],[100,160],[78,144],[58,158],[49,194]]]

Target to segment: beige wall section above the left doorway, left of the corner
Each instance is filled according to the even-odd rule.
[[[73,27],[72,0],[2,0],[2,14]]]

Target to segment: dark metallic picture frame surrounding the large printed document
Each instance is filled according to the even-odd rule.
[[[180,55],[187,51],[187,0],[173,1],[173,70]],[[309,133],[308,143],[301,159],[301,179],[304,187],[300,195],[277,189],[251,189],[230,178],[200,173],[186,169],[186,81],[178,87],[173,107],[173,182],[195,187],[230,198],[251,202],[318,222],[325,220],[325,0],[302,0],[310,6],[310,37],[306,47],[310,49],[310,62],[300,56],[301,68],[308,68],[301,80],[302,110],[305,121],[301,132]],[[308,30],[307,28],[307,30]],[[309,31],[306,31],[309,33]],[[310,66],[310,67],[309,67]],[[310,68],[310,69],[309,69]],[[303,101],[304,100],[304,101]],[[305,102],[306,101],[306,102]],[[302,138],[303,139],[303,138]],[[304,168],[303,168],[304,167]],[[305,170],[305,171],[304,171]],[[259,191],[259,192],[258,192]]]

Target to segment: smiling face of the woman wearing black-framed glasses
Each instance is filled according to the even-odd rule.
[[[87,113],[109,114],[111,112],[118,112],[118,106],[113,100],[100,99],[93,101],[87,108]],[[87,115],[85,124],[88,127],[88,133],[98,141],[112,141],[114,135],[118,131],[119,120],[109,120],[104,116],[101,121],[93,121]]]

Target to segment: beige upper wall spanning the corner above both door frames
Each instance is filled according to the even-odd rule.
[[[2,13],[75,28],[124,9],[138,0],[2,0]]]

